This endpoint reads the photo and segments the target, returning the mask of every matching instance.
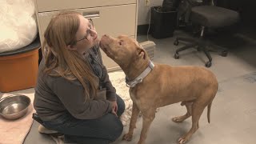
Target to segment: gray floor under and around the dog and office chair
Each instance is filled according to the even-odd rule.
[[[174,59],[176,36],[186,36],[182,31],[176,31],[173,38],[150,40],[156,43],[154,62],[166,63],[170,66],[204,66],[206,56],[196,50],[186,50],[180,53],[180,59]],[[138,41],[146,41],[146,36],[138,36]],[[219,91],[211,109],[211,122],[206,121],[206,110],[200,119],[200,128],[188,143],[190,144],[253,144],[256,141],[256,40],[245,35],[218,37],[220,45],[226,46],[230,53],[226,58],[212,54],[213,66],[209,69],[216,74]],[[182,46],[182,44],[180,45]],[[171,118],[185,114],[186,108],[179,104],[162,107],[150,127],[147,144],[172,144],[190,130],[190,118],[182,123],[174,123]],[[46,135],[38,134],[38,123],[34,122],[25,144],[52,144]],[[137,128],[131,142],[118,138],[114,144],[132,144],[138,142],[142,118],[138,118]],[[128,126],[123,134],[128,131]],[[122,134],[122,135],[123,135]]]

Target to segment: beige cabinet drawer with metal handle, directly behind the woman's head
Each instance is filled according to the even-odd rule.
[[[110,34],[113,37],[117,37],[119,34],[136,35],[135,4],[77,9],[75,11],[83,14],[86,18],[93,19],[99,38],[103,34]],[[58,14],[58,11],[38,13],[41,42],[43,42],[42,36],[50,22],[50,18],[55,14]]]

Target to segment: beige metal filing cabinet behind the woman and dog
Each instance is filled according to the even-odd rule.
[[[41,43],[50,18],[61,10],[75,10],[86,18],[92,18],[98,37],[110,34],[117,37],[126,34],[137,36],[138,0],[36,0],[36,15]],[[102,51],[102,61],[108,71],[120,70]]]

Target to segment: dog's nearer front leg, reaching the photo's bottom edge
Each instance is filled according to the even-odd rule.
[[[142,111],[142,132],[141,137],[139,138],[138,144],[144,144],[146,141],[146,136],[148,133],[148,130],[150,130],[150,125],[154,120],[155,117],[155,110],[154,108],[146,109],[145,111]]]

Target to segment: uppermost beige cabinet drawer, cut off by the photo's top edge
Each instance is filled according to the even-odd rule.
[[[135,4],[136,0],[37,0],[38,12]]]

